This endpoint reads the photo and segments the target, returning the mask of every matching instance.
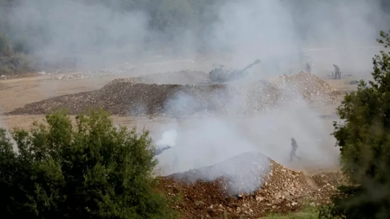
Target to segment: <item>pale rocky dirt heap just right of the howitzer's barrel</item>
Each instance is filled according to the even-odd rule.
[[[294,75],[283,74],[270,80],[274,86],[287,92],[298,92],[312,105],[338,103],[345,92],[331,87],[315,74],[300,72]]]

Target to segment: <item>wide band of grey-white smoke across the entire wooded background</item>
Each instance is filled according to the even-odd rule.
[[[286,73],[297,63],[302,48],[338,48],[308,51],[323,63],[314,70],[328,71],[337,63],[342,69],[357,71],[371,66],[370,58],[377,49],[351,48],[375,45],[378,31],[388,28],[389,21],[379,0],[227,0],[191,17],[197,19],[190,20],[193,22],[161,31],[150,26],[151,17],[146,13],[150,8],[121,12],[72,0],[21,2],[7,13],[11,35],[26,37],[29,46],[48,63],[68,58],[88,67],[134,63],[159,55],[195,57],[199,48],[207,48],[214,57],[228,53],[230,66],[245,66],[248,60],[260,58],[263,63],[254,71],[269,76]],[[188,6],[177,5],[182,7],[177,10]],[[210,14],[216,19],[202,18]],[[201,28],[191,26],[195,23]],[[30,29],[45,34],[25,36]],[[167,32],[175,37],[168,38]]]

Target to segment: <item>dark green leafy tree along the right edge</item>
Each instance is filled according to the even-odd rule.
[[[380,32],[385,48],[390,36]],[[337,112],[333,135],[340,147],[342,170],[351,180],[333,197],[333,205],[320,218],[390,218],[390,53],[373,57],[373,81],[361,80],[347,94]]]

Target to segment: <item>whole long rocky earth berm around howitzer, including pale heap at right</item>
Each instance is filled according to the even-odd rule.
[[[271,83],[261,81],[215,85],[168,83],[169,78],[171,81],[196,82],[203,76],[202,73],[182,71],[164,77],[162,74],[155,74],[116,79],[96,91],[27,104],[9,114],[45,114],[58,108],[77,114],[88,108],[102,107],[112,114],[123,116],[236,115],[263,111],[297,101],[305,101],[312,106],[332,104],[339,102],[344,94],[316,75],[303,72],[292,76],[280,76],[271,80]],[[151,84],[157,81],[167,84]]]

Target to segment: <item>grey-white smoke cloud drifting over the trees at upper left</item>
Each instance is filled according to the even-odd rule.
[[[28,37],[36,55],[49,63],[70,58],[94,67],[145,51],[140,42],[147,33],[148,18],[141,11],[122,14],[98,3],[26,0],[11,15],[14,32]],[[43,34],[23,36],[27,28]],[[42,36],[47,37],[43,45]]]

